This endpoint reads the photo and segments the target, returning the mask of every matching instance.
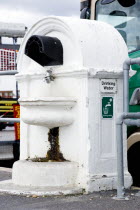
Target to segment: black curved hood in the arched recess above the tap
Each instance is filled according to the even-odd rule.
[[[25,54],[42,66],[63,64],[63,46],[56,37],[31,36],[26,43]]]

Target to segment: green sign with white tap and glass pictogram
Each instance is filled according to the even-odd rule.
[[[102,98],[102,117],[103,118],[113,117],[113,98],[112,97]]]

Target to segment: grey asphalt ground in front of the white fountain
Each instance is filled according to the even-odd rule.
[[[0,167],[0,181],[10,180],[12,169]],[[102,191],[91,194],[38,196],[10,195],[0,193],[0,210],[139,210],[140,191],[127,190],[129,200],[114,200],[116,191]]]

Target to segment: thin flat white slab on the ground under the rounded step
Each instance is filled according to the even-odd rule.
[[[82,189],[76,187],[23,187],[13,184],[12,180],[0,181],[0,193],[7,193],[12,195],[75,195],[81,194],[82,191]]]

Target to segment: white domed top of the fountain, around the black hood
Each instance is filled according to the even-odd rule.
[[[66,17],[46,17],[32,26],[20,47],[18,69],[23,74],[27,72],[26,67],[33,62],[24,55],[26,43],[33,35],[56,37],[61,41],[64,67],[77,66],[93,68],[95,71],[119,73],[128,56],[123,38],[116,29],[106,23]]]

